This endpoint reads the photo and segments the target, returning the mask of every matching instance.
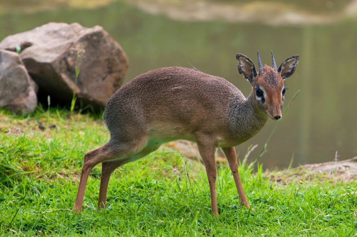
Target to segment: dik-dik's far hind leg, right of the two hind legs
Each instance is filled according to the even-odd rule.
[[[99,187],[98,209],[105,208],[105,206],[106,206],[107,189],[108,189],[108,183],[109,183],[111,173],[116,168],[120,167],[121,165],[129,163],[129,162],[137,160],[137,159],[140,159],[140,158],[146,156],[147,154],[157,150],[159,147],[160,147],[160,145],[146,147],[142,151],[140,151],[137,154],[134,154],[130,157],[102,163],[102,173],[101,173],[101,177],[100,177],[100,187]]]

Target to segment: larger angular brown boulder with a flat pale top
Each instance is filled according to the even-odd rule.
[[[100,26],[51,22],[3,39],[0,48],[21,47],[27,71],[39,96],[69,104],[75,90],[82,105],[105,107],[124,80],[128,59],[120,45]],[[79,65],[77,83],[76,66]]]

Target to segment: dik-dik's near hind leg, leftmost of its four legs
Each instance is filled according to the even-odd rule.
[[[125,144],[117,144],[115,142],[105,143],[103,146],[87,152],[84,155],[84,162],[79,181],[76,201],[74,202],[73,211],[81,212],[84,197],[84,191],[87,184],[87,179],[91,170],[96,164],[112,160],[118,157],[125,157],[135,151],[139,143],[127,142]],[[139,148],[140,149],[140,148]]]

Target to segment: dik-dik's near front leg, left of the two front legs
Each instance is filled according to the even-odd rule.
[[[207,139],[197,138],[198,151],[200,151],[203,163],[205,163],[208,184],[210,185],[211,209],[214,216],[218,216],[217,198],[216,198],[216,162],[215,162],[215,144],[208,142]]]

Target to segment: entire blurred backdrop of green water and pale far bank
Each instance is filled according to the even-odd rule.
[[[197,10],[201,9],[201,10]],[[206,9],[206,10],[205,10]],[[237,12],[237,14],[235,14]],[[299,54],[286,80],[294,104],[261,158],[265,168],[357,156],[356,1],[113,1],[1,0],[0,40],[48,22],[101,25],[129,57],[125,82],[148,70],[181,66],[223,77],[246,96],[250,84],[238,73],[236,53],[271,65]],[[211,14],[212,13],[212,14]],[[85,60],[85,59],[84,59]],[[275,122],[238,146],[255,158]]]

